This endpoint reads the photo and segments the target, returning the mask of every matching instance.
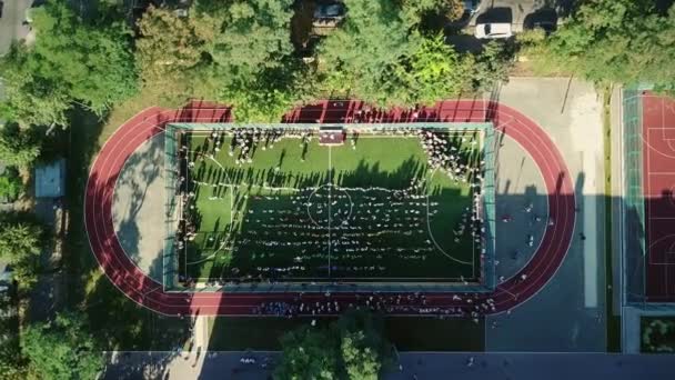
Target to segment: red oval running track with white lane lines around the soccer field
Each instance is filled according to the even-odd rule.
[[[289,113],[293,122],[349,121],[363,104],[356,101],[322,102]],[[575,199],[570,172],[564,159],[548,136],[531,119],[503,104],[483,100],[452,100],[433,108],[412,111],[392,110],[376,113],[373,121],[493,121],[495,128],[517,141],[537,164],[548,193],[548,214],[555,224],[548,228],[530,262],[520,273],[501,283],[493,293],[474,294],[472,303],[492,299],[494,310],[506,311],[536,294],[555,274],[570,248],[574,222]],[[182,110],[150,108],[127,121],[107,141],[95,159],[87,183],[84,222],[91,249],[105,276],[137,303],[168,316],[200,313],[202,316],[251,314],[261,302],[288,301],[296,293],[223,293],[165,292],[162,284],[149,278],[127,257],[112,219],[113,192],[127,159],[143,142],[163,131],[168,122],[218,122],[229,120],[229,111],[213,104],[191,103]],[[521,276],[526,274],[525,280]],[[454,293],[426,293],[426,308],[473,310],[467,299],[453,300]],[[465,296],[465,294],[459,294]],[[331,300],[351,302],[354,293],[334,293]],[[303,296],[304,302],[324,300],[321,293]]]

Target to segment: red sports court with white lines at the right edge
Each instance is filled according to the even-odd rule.
[[[675,100],[642,94],[645,296],[675,301]]]

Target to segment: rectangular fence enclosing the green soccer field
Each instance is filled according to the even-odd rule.
[[[341,281],[340,279],[325,279],[322,282],[276,282],[276,283],[232,283],[213,280],[209,283],[197,283],[195,287],[184,287],[179,281],[179,252],[174,246],[177,229],[182,218],[181,202],[178,199],[180,190],[179,146],[182,131],[190,133],[228,131],[245,128],[282,129],[282,130],[312,130],[320,131],[322,128],[343,128],[346,132],[357,131],[386,132],[386,131],[412,131],[419,129],[434,129],[449,131],[478,131],[483,134],[483,208],[484,218],[484,246],[481,259],[480,282],[357,282]],[[437,291],[437,292],[490,292],[496,286],[495,274],[495,131],[491,122],[401,122],[401,123],[169,123],[164,131],[164,171],[165,171],[165,237],[163,254],[163,282],[167,291],[185,292],[299,292],[299,291],[381,291],[381,292],[411,292],[411,291]]]

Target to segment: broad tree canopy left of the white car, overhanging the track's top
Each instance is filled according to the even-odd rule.
[[[384,107],[431,104],[506,80],[505,46],[459,53],[443,33],[421,33],[422,14],[462,8],[454,0],[347,0],[345,22],[319,44],[324,97],[352,97]]]

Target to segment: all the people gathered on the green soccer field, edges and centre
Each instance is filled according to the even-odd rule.
[[[380,127],[352,132],[352,146],[355,146],[359,133],[364,132],[419,138],[429,156],[430,170],[437,170],[457,183],[469,183],[473,201],[457,220],[450,241],[455,244],[473,241],[472,246],[480,249],[485,232],[481,212],[484,162],[471,162],[477,144],[475,136]],[[250,163],[256,149],[272,149],[282,138],[298,138],[301,146],[308,144],[318,133],[318,130],[301,128],[233,128],[211,131],[201,147],[190,147],[191,137],[183,133],[179,140],[179,157],[183,162],[179,191],[184,214],[175,248],[184,249],[197,237],[198,222],[193,211],[199,187],[220,183],[199,181],[194,172],[197,160],[215,159],[222,149],[228,149],[228,156],[236,156],[236,164]],[[393,268],[410,268],[407,263],[430,260],[439,247],[430,233],[430,222],[443,204],[427,198],[430,183],[425,177],[413,178],[407,188],[399,190],[375,187],[346,189],[329,184],[334,190],[330,197],[325,191],[318,191],[320,188],[298,189],[283,196],[251,194],[253,202],[249,202],[248,210],[235,216],[238,222],[246,228],[241,229],[235,238],[231,237],[231,244],[228,244],[233,257],[245,256],[249,262],[233,264],[231,272],[223,273],[223,277],[276,281],[315,277],[318,272],[325,276],[328,272],[346,278],[376,278],[389,274]],[[259,198],[276,201],[265,202],[265,209],[258,209],[254,201]],[[444,253],[453,254],[445,237],[442,239],[445,240]],[[485,250],[481,249],[481,254],[484,253]],[[291,257],[292,261],[284,260]]]

